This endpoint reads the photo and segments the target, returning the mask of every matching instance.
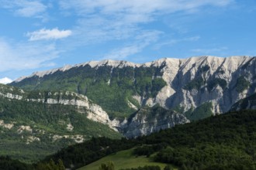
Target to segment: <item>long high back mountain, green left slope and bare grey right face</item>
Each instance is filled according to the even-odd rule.
[[[141,106],[160,104],[190,120],[223,113],[255,92],[256,57],[159,59],[136,64],[103,60],[33,73],[11,83],[25,90],[71,90],[124,120]],[[201,107],[199,113],[196,108]],[[208,110],[206,115],[202,110]],[[210,113],[209,113],[210,111]]]

